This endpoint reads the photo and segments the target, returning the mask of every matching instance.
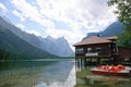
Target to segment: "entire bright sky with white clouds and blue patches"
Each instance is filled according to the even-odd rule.
[[[0,15],[36,36],[64,37],[70,46],[117,21],[108,0],[0,0]]]

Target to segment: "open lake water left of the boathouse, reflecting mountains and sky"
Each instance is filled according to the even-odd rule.
[[[73,87],[74,85],[73,60],[0,62],[0,87]]]

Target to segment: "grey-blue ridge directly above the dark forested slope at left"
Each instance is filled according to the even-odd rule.
[[[21,30],[20,28],[14,26],[8,18],[0,16],[0,25],[5,27],[7,29],[11,30],[13,34],[17,35],[22,39],[26,40],[27,42],[29,42],[34,47],[37,47],[40,49],[40,40],[35,35],[27,34],[27,33]]]

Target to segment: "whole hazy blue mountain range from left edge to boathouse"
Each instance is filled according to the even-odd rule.
[[[7,22],[8,21],[8,22]],[[23,40],[27,41],[32,46],[41,49],[44,51],[47,51],[51,54],[56,54],[59,57],[70,57],[73,51],[70,48],[67,39],[64,38],[58,38],[53,39],[51,36],[48,38],[41,38],[33,35],[33,34],[27,34],[16,26],[14,26],[9,20],[4,20],[3,17],[0,16],[0,25],[2,25],[4,28],[8,28],[10,32],[22,38]]]

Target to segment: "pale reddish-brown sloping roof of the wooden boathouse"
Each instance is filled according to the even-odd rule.
[[[95,44],[108,44],[108,42],[114,42],[112,40],[117,39],[117,36],[112,37],[97,37],[97,36],[92,36],[88,37],[80,42],[76,42],[75,46],[84,46],[84,45],[95,45]]]

